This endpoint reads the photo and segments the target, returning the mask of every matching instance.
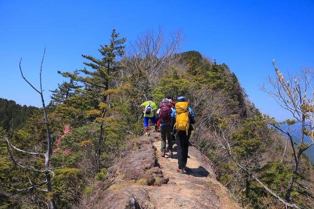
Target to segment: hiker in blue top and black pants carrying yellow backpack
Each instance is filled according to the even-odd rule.
[[[171,123],[174,124],[176,131],[178,167],[177,171],[183,173],[186,171],[186,161],[188,153],[188,143],[193,131],[192,124],[195,123],[193,110],[185,102],[184,97],[179,97],[176,103],[176,109],[172,112]]]

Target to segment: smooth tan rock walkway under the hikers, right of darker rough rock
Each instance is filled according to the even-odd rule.
[[[207,157],[197,149],[189,147],[187,171],[176,171],[178,158],[176,145],[174,155],[161,157],[160,141],[154,142],[157,159],[167,184],[151,188],[149,196],[157,208],[193,208],[193,209],[234,209],[237,205],[229,197],[227,189],[216,180],[214,170]]]

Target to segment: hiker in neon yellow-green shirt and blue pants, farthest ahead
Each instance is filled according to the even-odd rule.
[[[148,136],[148,121],[153,121],[156,129],[156,110],[157,105],[153,102],[153,97],[149,96],[148,101],[141,104],[139,107],[143,110],[144,113],[144,132],[145,136]]]

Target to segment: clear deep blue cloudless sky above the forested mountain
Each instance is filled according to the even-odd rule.
[[[146,29],[182,28],[184,51],[196,50],[226,63],[263,112],[288,117],[259,89],[281,71],[314,67],[314,0],[0,0],[0,97],[40,106],[19,74],[38,86],[44,47],[43,84],[50,92],[64,78],[57,71],[83,67],[81,54],[98,55],[116,28],[129,41]]]

